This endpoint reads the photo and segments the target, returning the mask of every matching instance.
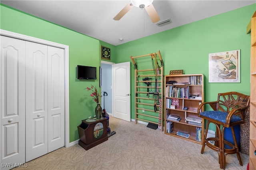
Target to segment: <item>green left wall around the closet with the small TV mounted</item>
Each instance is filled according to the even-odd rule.
[[[24,12],[0,6],[0,28],[69,46],[70,142],[77,140],[81,120],[94,116],[96,103],[84,90],[99,88],[100,42],[89,36],[47,22]],[[97,80],[76,79],[76,65],[97,67]]]

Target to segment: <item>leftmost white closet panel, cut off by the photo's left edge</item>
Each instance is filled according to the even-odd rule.
[[[0,51],[2,170],[25,162],[25,42],[1,36]]]

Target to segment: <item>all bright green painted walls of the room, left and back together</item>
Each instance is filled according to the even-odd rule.
[[[93,116],[96,107],[86,87],[99,87],[97,80],[76,79],[76,65],[100,66],[100,45],[110,47],[110,62],[130,61],[130,56],[160,50],[164,75],[170,70],[183,69],[186,74],[205,75],[205,101],[216,100],[217,93],[238,91],[250,94],[250,34],[246,26],[256,4],[226,12],[198,22],[180,26],[139,40],[111,45],[54,23],[31,16],[1,4],[0,29],[69,45],[70,142],[77,140],[77,126],[82,119]],[[208,54],[241,49],[241,83],[208,83]],[[109,60],[105,60],[109,61]],[[134,119],[134,66],[131,64],[131,117]]]

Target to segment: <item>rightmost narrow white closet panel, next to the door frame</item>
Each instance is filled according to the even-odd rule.
[[[65,145],[64,49],[48,46],[48,152]]]

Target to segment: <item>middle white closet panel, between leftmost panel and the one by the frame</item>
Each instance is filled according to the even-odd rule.
[[[48,153],[47,45],[26,42],[26,162]]]

